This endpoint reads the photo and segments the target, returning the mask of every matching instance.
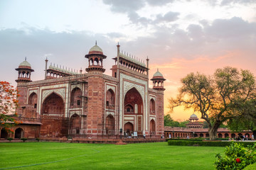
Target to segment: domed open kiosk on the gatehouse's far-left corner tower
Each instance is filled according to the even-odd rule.
[[[25,61],[21,62],[21,64],[18,65],[16,71],[18,71],[18,79],[15,80],[17,83],[31,81],[31,72],[33,72],[34,70],[31,69],[31,64],[26,61],[26,57]]]

